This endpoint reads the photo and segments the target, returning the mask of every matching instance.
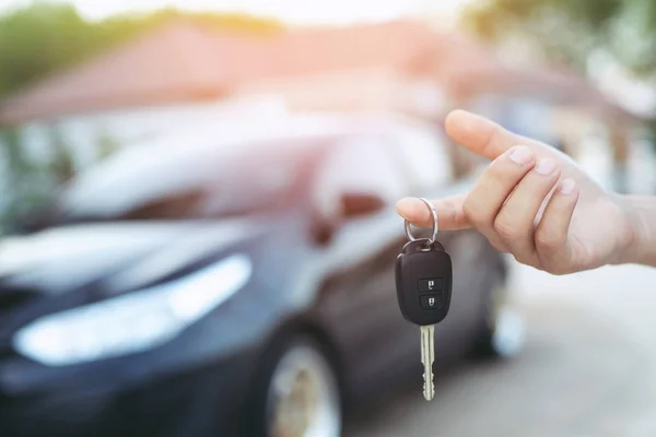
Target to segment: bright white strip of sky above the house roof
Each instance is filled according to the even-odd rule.
[[[32,0],[0,0],[0,11]],[[186,10],[239,11],[270,15],[291,24],[347,24],[400,16],[455,16],[470,0],[59,0],[73,3],[90,20],[164,7]]]

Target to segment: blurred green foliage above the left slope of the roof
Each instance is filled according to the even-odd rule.
[[[0,16],[0,99],[52,71],[178,19],[226,32],[261,34],[282,28],[274,20],[246,14],[175,9],[87,22],[70,4],[32,3]]]

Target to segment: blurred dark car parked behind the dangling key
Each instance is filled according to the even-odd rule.
[[[421,395],[394,202],[453,190],[448,156],[415,121],[290,116],[82,173],[0,244],[2,436],[338,436],[394,380]],[[436,368],[503,353],[503,258],[475,233],[440,239],[454,291]]]

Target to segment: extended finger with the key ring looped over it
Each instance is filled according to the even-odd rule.
[[[471,224],[462,212],[462,202],[467,194],[452,196],[445,199],[431,200],[437,211],[440,231],[466,229]],[[408,222],[420,227],[432,227],[433,217],[424,202],[417,198],[405,198],[397,202],[397,212]]]

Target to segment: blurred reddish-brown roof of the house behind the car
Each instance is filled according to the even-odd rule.
[[[243,83],[373,68],[421,72],[454,90],[523,86],[567,98],[593,93],[573,75],[509,69],[478,43],[415,21],[269,36],[174,22],[19,92],[0,105],[0,123],[215,98]]]

